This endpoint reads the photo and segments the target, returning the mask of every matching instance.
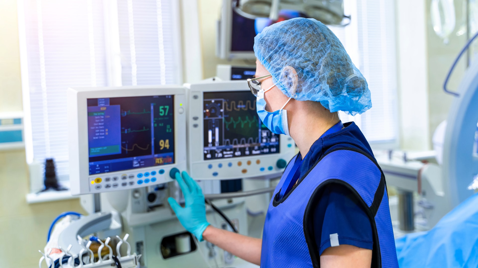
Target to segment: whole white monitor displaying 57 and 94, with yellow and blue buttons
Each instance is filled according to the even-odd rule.
[[[70,88],[72,194],[171,180],[185,170],[183,87]]]

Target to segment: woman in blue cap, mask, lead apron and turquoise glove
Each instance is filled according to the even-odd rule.
[[[204,195],[185,172],[185,207],[168,200],[181,224],[261,267],[398,267],[385,177],[353,122],[337,111],[371,107],[367,82],[337,37],[314,19],[266,27],[255,37],[257,113],[300,149],[273,193],[262,239],[206,221]],[[269,112],[272,111],[272,112]]]

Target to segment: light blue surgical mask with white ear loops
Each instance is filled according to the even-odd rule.
[[[289,103],[292,97],[287,100],[280,110],[272,113],[265,110],[266,101],[264,100],[264,93],[272,89],[274,86],[275,85],[272,85],[267,90],[261,90],[258,92],[256,100],[257,114],[259,115],[259,118],[261,118],[262,123],[264,123],[272,133],[290,136],[289,124],[287,123],[287,111],[284,110],[284,107]]]

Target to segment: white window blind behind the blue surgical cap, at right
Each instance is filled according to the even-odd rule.
[[[352,23],[330,27],[344,44],[354,64],[365,76],[372,108],[354,117],[341,113],[343,121],[355,121],[369,142],[396,142],[397,60],[394,1],[346,0]],[[348,12],[347,12],[348,11]]]

